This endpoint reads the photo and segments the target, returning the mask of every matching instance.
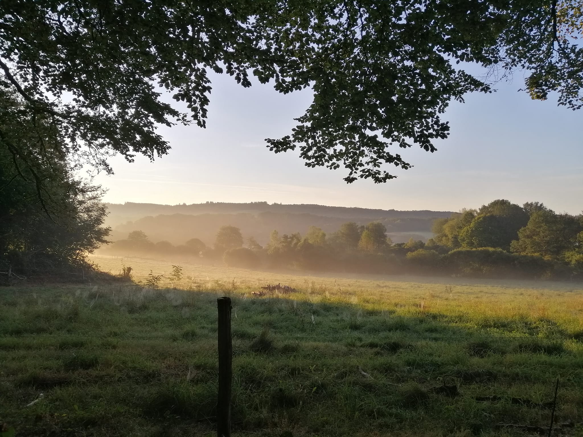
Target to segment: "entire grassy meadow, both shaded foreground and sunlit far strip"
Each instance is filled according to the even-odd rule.
[[[170,282],[169,263],[94,261],[138,284],[0,289],[0,423],[16,435],[212,435],[222,295],[234,435],[528,435],[557,378],[559,433],[583,435],[581,285],[194,265]],[[252,295],[268,283],[297,292]]]

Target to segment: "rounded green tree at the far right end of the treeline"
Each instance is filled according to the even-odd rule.
[[[518,231],[511,250],[522,255],[558,258],[564,252],[579,247],[578,234],[583,230],[577,217],[539,210],[532,214],[528,224]]]

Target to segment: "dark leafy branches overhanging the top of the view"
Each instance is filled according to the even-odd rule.
[[[107,171],[111,153],[166,154],[158,125],[205,126],[210,71],[244,87],[252,72],[281,93],[310,87],[296,128],[268,146],[299,147],[310,167],[343,166],[347,182],[394,178],[384,164],[410,164],[391,146],[435,151],[449,135],[449,102],[491,92],[459,62],[494,77],[524,69],[532,98],[554,93],[573,109],[583,101],[578,0],[3,0],[0,17],[0,86],[20,94],[30,122],[51,118],[62,151]],[[9,153],[51,164],[26,142]]]

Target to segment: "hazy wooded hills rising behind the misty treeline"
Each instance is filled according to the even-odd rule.
[[[342,223],[355,221],[367,224],[381,221],[395,242],[410,237],[427,239],[435,218],[449,217],[451,212],[397,211],[349,208],[323,205],[269,205],[253,203],[199,203],[194,205],[155,205],[148,203],[108,203],[108,225],[113,227],[114,240],[127,237],[134,230],[146,232],[150,241],[168,240],[183,244],[187,239],[200,238],[212,244],[217,230],[223,225],[241,228],[243,236],[255,237],[265,244],[272,230],[280,234],[305,234],[311,225],[325,232],[338,230]]]

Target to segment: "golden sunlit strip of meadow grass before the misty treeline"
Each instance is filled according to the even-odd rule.
[[[145,283],[149,272],[164,275],[160,286],[185,290],[261,291],[266,284],[297,288],[294,299],[357,303],[374,311],[402,315],[439,312],[472,318],[552,319],[573,332],[583,330],[583,284],[553,281],[478,280],[451,277],[381,276],[260,272],[223,266],[181,265],[183,280],[171,283],[172,263],[140,258],[95,256],[106,272],[131,266],[134,280]]]

